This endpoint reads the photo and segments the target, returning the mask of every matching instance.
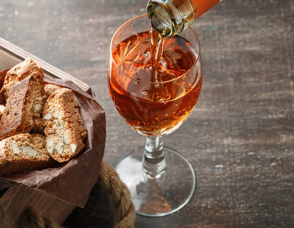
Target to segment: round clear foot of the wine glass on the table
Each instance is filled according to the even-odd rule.
[[[131,192],[138,214],[160,217],[181,209],[196,189],[196,175],[192,165],[179,152],[164,147],[166,169],[156,178],[148,178],[143,170],[141,147],[118,163],[116,170]]]

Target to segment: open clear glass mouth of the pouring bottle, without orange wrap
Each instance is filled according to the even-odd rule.
[[[148,17],[152,27],[158,32],[160,39],[166,36],[172,36],[178,33],[181,25],[181,18],[177,18],[175,14],[178,8],[172,1],[150,0],[147,5]]]

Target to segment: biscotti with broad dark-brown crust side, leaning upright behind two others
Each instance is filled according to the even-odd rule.
[[[0,140],[28,133],[40,117],[45,103],[44,77],[34,72],[14,85],[0,120]]]

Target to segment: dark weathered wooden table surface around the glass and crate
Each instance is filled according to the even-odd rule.
[[[109,43],[147,0],[0,0],[0,36],[92,86],[107,116],[105,160],[144,144],[116,112],[107,89]],[[294,0],[224,0],[193,24],[204,81],[191,117],[164,143],[198,178],[196,194],[136,228],[294,227]],[[102,200],[102,201],[101,201]],[[69,228],[110,228],[97,185]]]

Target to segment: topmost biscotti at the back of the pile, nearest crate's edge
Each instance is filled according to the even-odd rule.
[[[11,68],[6,73],[4,84],[0,91],[0,93],[2,94],[4,103],[8,99],[9,91],[11,90],[11,87],[21,82],[23,79],[28,77],[33,72],[39,72],[41,75],[43,75],[43,78],[44,78],[43,69],[30,58],[26,58],[24,62]]]

